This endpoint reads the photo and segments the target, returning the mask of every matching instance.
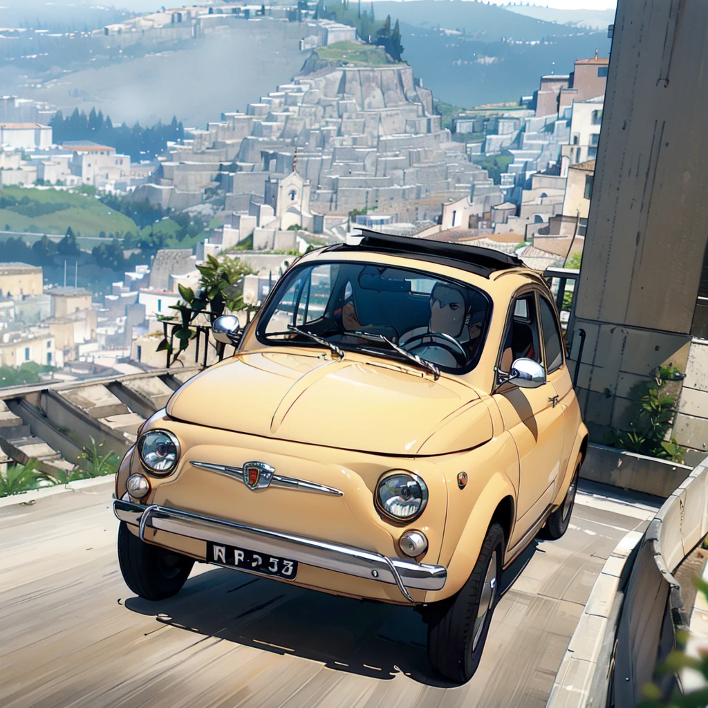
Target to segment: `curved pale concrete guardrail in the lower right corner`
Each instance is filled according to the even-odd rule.
[[[676,630],[687,629],[672,572],[708,534],[707,465],[708,457],[666,499],[632,554],[622,558],[618,552],[631,543],[628,535],[607,560],[556,675],[549,708],[631,708],[651,680],[665,696],[675,687],[675,676],[655,677],[654,671],[675,648]]]

